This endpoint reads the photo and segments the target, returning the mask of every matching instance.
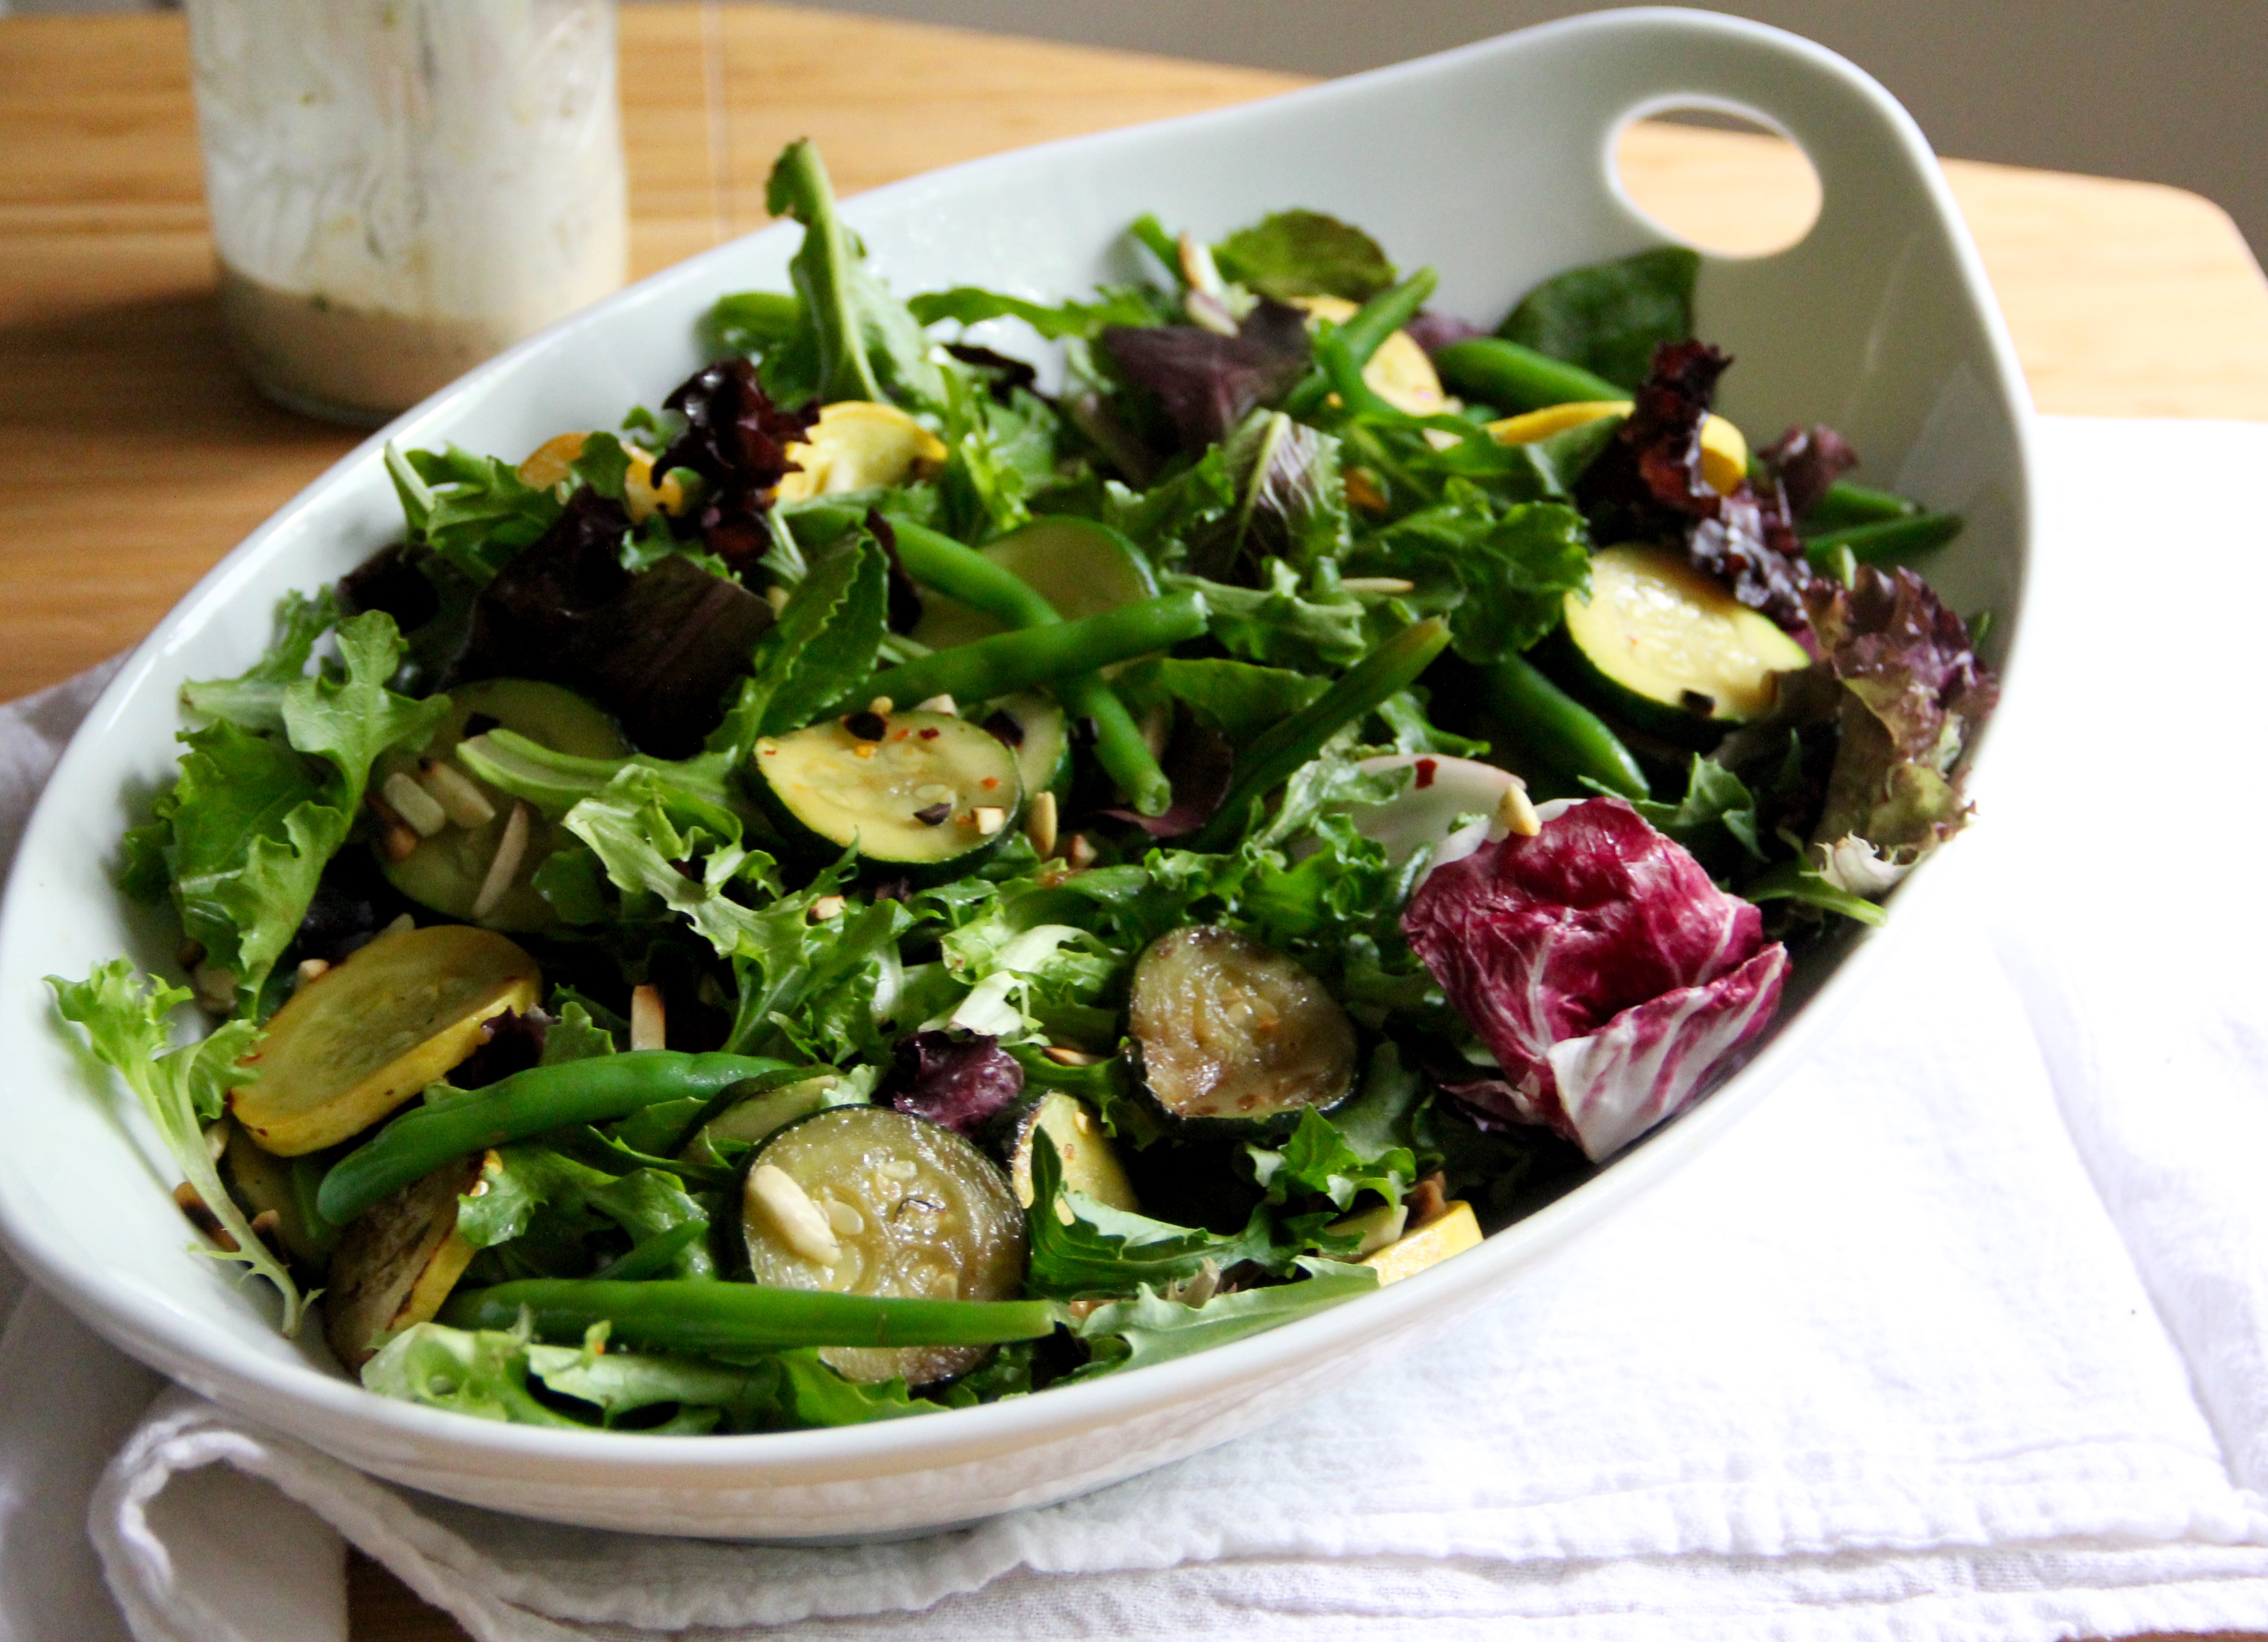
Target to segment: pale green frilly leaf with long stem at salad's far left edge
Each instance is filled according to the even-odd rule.
[[[204,1125],[227,1109],[229,1086],[249,1082],[236,1064],[259,1041],[259,1025],[229,1021],[200,1043],[172,1048],[168,1016],[188,1002],[188,991],[163,982],[145,987],[122,957],[100,964],[86,980],[48,975],[48,984],[54,989],[57,1014],[86,1027],[95,1059],[127,1082],[184,1179],[236,1238],[234,1252],[204,1243],[191,1247],[274,1284],[284,1297],[284,1334],[297,1334],[313,1295],[299,1293],[284,1263],[252,1232],[243,1209],[220,1184],[213,1154],[204,1150]]]

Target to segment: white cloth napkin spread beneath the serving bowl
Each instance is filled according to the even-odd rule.
[[[2048,422],[2041,456],[2030,671],[1923,928],[1753,1118],[1454,1338],[1089,1499],[853,1549],[499,1517],[175,1390],[88,1506],[134,1635],[342,1637],[333,1531],[483,1642],[2268,1628],[2268,426]],[[70,717],[7,714],[0,760]],[[9,1601],[147,1386],[27,1302],[0,1372],[64,1361],[68,1463],[0,1422]]]

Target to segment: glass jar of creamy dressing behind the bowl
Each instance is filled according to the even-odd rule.
[[[188,0],[220,311],[270,399],[374,424],[615,290],[612,0]]]

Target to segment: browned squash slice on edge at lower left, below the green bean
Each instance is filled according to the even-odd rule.
[[[456,1232],[456,1200],[483,1166],[481,1152],[451,1159],[379,1197],[340,1236],[322,1295],[322,1338],[349,1370],[367,1363],[383,1336],[431,1322],[472,1266],[474,1247]]]

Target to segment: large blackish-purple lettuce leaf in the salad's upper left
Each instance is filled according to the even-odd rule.
[[[646,753],[696,753],[771,606],[678,553],[631,574],[628,528],[619,501],[574,492],[558,524],[481,590],[442,685],[544,678],[594,699]]]

